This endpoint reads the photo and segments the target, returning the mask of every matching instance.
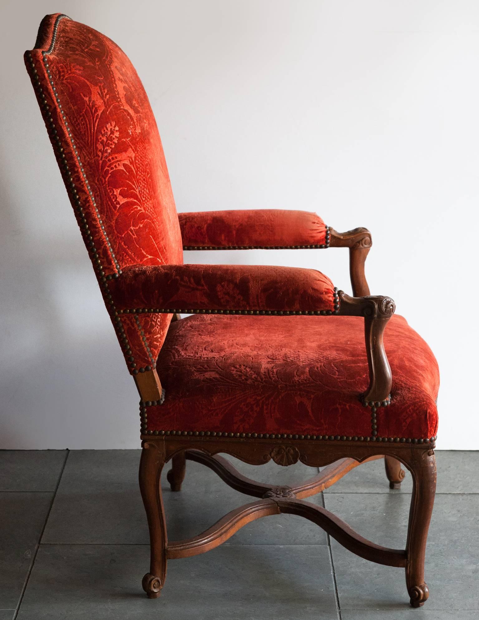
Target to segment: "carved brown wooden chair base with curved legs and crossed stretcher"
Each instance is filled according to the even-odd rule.
[[[405,569],[406,587],[413,607],[420,607],[429,596],[424,582],[424,552],[436,489],[434,449],[428,445],[397,445],[353,441],[284,439],[242,439],[198,436],[142,436],[143,451],[139,468],[141,495],[146,509],[150,544],[150,570],[143,578],[143,589],[149,598],[157,598],[165,583],[167,560],[196,556],[227,541],[250,521],[280,513],[304,516],[330,534],[346,549],[364,559]],[[253,465],[271,459],[288,466],[298,461],[313,467],[326,467],[318,476],[296,487],[268,485],[245,478],[226,459],[226,453]],[[405,549],[389,549],[368,541],[330,511],[305,502],[327,489],[341,477],[365,461],[389,456],[400,461],[413,476],[408,537]],[[180,490],[185,476],[185,459],[213,469],[226,484],[246,495],[259,498],[232,510],[211,528],[194,538],[169,542],[164,516],[160,475],[164,464],[172,459],[168,480],[174,491]],[[336,463],[335,463],[336,461]]]

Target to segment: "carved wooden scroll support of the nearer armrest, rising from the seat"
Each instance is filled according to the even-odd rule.
[[[384,350],[383,334],[387,322],[394,314],[396,304],[389,297],[380,295],[350,297],[343,291],[339,291],[338,295],[340,298],[338,314],[364,317],[369,386],[363,400],[371,407],[387,404],[391,392],[392,375]]]

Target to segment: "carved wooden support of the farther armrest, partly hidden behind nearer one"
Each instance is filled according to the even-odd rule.
[[[371,232],[367,228],[354,228],[352,231],[337,232],[329,228],[330,247],[349,247],[349,274],[353,295],[361,297],[369,295],[366,276],[364,275],[364,262],[372,246]]]

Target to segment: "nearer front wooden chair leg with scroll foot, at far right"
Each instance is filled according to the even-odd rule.
[[[413,494],[406,543],[406,585],[411,606],[421,607],[429,596],[428,586],[424,583],[424,554],[436,493],[434,450],[418,450],[410,466]]]

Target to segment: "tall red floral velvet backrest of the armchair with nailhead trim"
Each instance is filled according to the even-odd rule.
[[[183,262],[146,92],[115,43],[61,14],[42,20],[25,64],[130,370],[154,366],[171,315],[119,323],[108,293],[128,265]]]

